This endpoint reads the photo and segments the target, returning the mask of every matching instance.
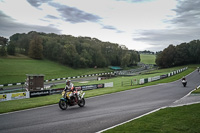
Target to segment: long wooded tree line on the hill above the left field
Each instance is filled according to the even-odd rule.
[[[110,65],[126,67],[140,61],[140,55],[135,50],[90,37],[31,31],[27,34],[16,33],[0,45],[0,50],[4,51],[0,56],[20,53],[33,59],[49,59],[74,68]]]

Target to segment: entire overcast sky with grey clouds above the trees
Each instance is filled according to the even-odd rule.
[[[200,0],[0,0],[0,36],[29,31],[160,51],[199,39]]]

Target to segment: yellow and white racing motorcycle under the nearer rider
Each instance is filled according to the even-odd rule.
[[[78,105],[80,107],[85,106],[85,93],[82,90],[68,90],[65,88],[62,92],[62,98],[59,101],[59,107],[62,110],[66,110],[68,106]]]

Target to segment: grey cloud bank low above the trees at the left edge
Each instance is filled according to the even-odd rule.
[[[5,15],[0,11],[0,35],[6,38],[15,33],[25,33],[30,31],[46,32],[46,33],[61,33],[59,29],[49,26],[26,25],[15,22],[14,19]]]

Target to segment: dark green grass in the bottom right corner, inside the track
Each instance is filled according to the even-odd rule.
[[[105,133],[199,133],[200,104],[166,108]]]

